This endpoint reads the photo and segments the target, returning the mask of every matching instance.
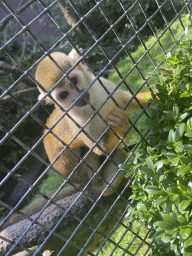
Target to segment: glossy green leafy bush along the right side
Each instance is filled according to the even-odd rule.
[[[158,90],[150,100],[148,142],[133,163],[122,165],[135,175],[128,213],[151,228],[159,251],[153,255],[192,255],[192,26],[175,40],[175,55],[168,54],[163,68],[152,76]],[[133,171],[130,171],[133,170]],[[171,254],[170,254],[171,255]]]

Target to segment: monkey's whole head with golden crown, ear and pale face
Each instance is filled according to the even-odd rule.
[[[49,57],[45,57],[37,67],[36,80],[45,91],[55,87],[51,92],[51,96],[64,109],[70,108],[73,104],[72,111],[77,112],[78,109],[82,111],[88,106],[91,98],[90,92],[85,92],[91,82],[89,76],[81,68],[81,65],[78,65],[58,83],[64,74],[72,68],[74,62],[66,54],[60,52],[52,53],[51,57],[60,68]],[[46,95],[46,92],[39,86],[38,89],[40,91],[38,99],[41,100]],[[49,96],[45,98],[45,102],[48,104],[54,103]],[[55,104],[56,107],[58,104]]]

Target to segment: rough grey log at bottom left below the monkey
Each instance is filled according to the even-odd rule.
[[[47,207],[37,220],[37,223],[43,225],[45,228],[42,228],[38,224],[34,224],[30,228],[29,232],[27,232],[27,234],[21,240],[20,245],[23,245],[25,247],[31,247],[37,244],[41,244],[49,233],[48,230],[53,229],[59,219],[65,213],[64,209],[69,208],[69,206],[79,195],[80,192],[65,199],[59,200],[57,204],[59,204],[61,208],[56,205],[51,205],[50,207]],[[91,204],[92,203],[87,199],[86,196],[81,195],[80,199],[77,200],[77,202],[67,214],[64,222],[59,225],[57,232],[63,229],[68,224],[68,222],[71,222],[72,220],[73,222],[75,222],[74,214],[78,214],[79,217],[83,217],[84,212],[87,211],[87,207],[90,208]],[[32,215],[31,219],[35,219],[37,215],[38,213]],[[14,243],[20,238],[20,236],[25,232],[30,224],[31,221],[27,219],[19,221],[16,224],[13,224],[12,226],[4,229],[0,233],[0,236]],[[11,248],[11,246],[12,244],[10,242],[0,239],[0,252],[6,253]]]

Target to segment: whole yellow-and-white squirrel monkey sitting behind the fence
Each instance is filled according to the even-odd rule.
[[[75,50],[72,50],[69,55],[54,52],[51,53],[51,57],[57,64],[47,56],[39,63],[36,70],[36,80],[41,85],[41,87],[38,86],[39,100],[79,59]],[[48,133],[44,138],[45,150],[49,161],[53,162],[65,148],[53,167],[65,178],[74,171],[70,181],[79,188],[85,186],[97,172],[106,155],[111,153],[119,143],[119,137],[122,138],[128,130],[127,113],[121,108],[131,99],[131,95],[120,89],[115,90],[112,97],[119,104],[117,107],[111,97],[107,99],[109,93],[115,89],[115,85],[108,80],[100,78],[105,88],[96,80],[86,90],[94,79],[95,76],[88,70],[88,67],[80,63],[65,78],[61,79],[50,93],[58,104],[55,104],[55,109],[46,125],[51,128],[63,116],[52,131],[64,144],[54,135]],[[140,93],[137,95],[137,99],[144,106],[146,105],[144,96],[150,97],[150,95],[150,93]],[[49,96],[45,98],[45,102],[54,103]],[[70,108],[72,104],[73,106]],[[64,115],[58,105],[62,106],[64,110],[68,110],[68,115]],[[100,108],[99,114],[95,113],[98,108]],[[133,99],[127,112],[137,109],[139,109],[139,105]],[[108,125],[114,132],[107,129]],[[80,131],[80,126],[84,127],[82,131]],[[73,141],[71,142],[71,140]],[[70,143],[69,146],[68,143]],[[65,145],[67,146],[65,147]],[[87,154],[88,151],[89,154]],[[88,165],[80,161],[85,154],[87,154],[85,160]],[[114,150],[112,156],[106,159],[101,171],[94,177],[91,188],[97,193],[101,193],[105,189],[104,196],[112,194],[124,178],[124,174],[118,172],[118,164],[123,163],[125,159],[126,152],[120,145]],[[106,189],[107,184],[110,186]]]

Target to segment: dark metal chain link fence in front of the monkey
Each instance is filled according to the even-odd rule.
[[[0,1],[0,255],[156,255],[150,230],[126,220],[133,177],[119,164],[145,140],[141,95],[190,2]]]

